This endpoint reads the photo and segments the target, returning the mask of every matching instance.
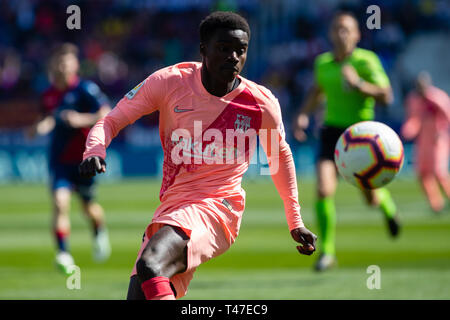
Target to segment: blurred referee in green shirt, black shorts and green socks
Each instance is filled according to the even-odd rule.
[[[294,136],[306,139],[309,114],[325,102],[324,125],[320,132],[317,162],[316,213],[321,239],[317,271],[333,267],[336,263],[335,230],[336,210],[334,195],[337,187],[337,169],[334,149],[339,136],[350,125],[374,119],[375,101],[387,105],[392,100],[389,79],[377,55],[357,48],[360,31],[357,19],[349,12],[338,12],[331,22],[329,36],[331,52],[319,55],[314,63],[315,83],[294,123]],[[362,191],[367,203],[379,207],[386,217],[389,231],[397,236],[399,224],[396,206],[388,190]]]

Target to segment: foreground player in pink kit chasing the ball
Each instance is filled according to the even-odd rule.
[[[151,74],[88,136],[80,173],[89,176],[106,170],[105,149],[123,127],[159,110],[161,204],[146,229],[128,299],[184,296],[196,267],[235,241],[245,206],[241,180],[256,134],[284,201],[292,238],[301,243],[297,250],[306,255],[315,250],[316,236],[300,215],[295,167],[278,101],[239,75],[249,39],[244,18],[212,13],[200,24],[202,63],[180,63]]]

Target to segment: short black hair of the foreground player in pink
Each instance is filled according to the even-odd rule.
[[[200,23],[200,42],[207,42],[217,29],[239,29],[250,39],[250,26],[244,17],[231,11],[215,11]]]

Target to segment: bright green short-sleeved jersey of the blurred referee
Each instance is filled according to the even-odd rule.
[[[355,48],[344,61],[334,60],[332,52],[319,55],[314,62],[316,82],[326,97],[324,124],[338,128],[364,120],[373,120],[375,99],[351,89],[341,74],[344,64],[351,64],[358,75],[367,82],[388,87],[389,78],[378,56],[370,51]]]

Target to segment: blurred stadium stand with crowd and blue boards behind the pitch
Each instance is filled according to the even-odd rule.
[[[66,28],[71,4],[81,8],[81,30]],[[381,8],[380,30],[366,28],[366,8],[373,4]],[[71,41],[80,47],[81,75],[98,83],[114,105],[158,68],[200,60],[198,25],[215,9],[248,18],[252,39],[244,76],[279,98],[298,173],[312,174],[314,129],[300,145],[289,136],[290,121],[312,83],[315,56],[330,48],[328,22],[338,8],[357,15],[360,46],[379,54],[392,81],[395,102],[378,109],[378,120],[398,130],[403,98],[420,70],[450,91],[450,2],[445,0],[0,0],[0,183],[46,179],[48,137],[27,141],[23,129],[38,117],[39,96],[49,85],[45,61],[56,44]],[[157,114],[141,119],[113,142],[104,179],[160,173],[157,119]],[[406,147],[408,172],[412,160]],[[131,163],[135,155],[139,163]]]

